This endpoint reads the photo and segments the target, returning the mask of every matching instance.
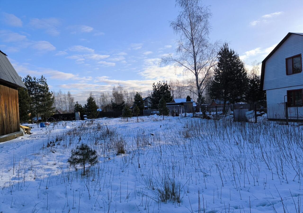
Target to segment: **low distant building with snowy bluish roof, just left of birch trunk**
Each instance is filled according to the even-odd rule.
[[[179,111],[179,113],[192,113],[195,112],[197,104],[192,99],[190,102],[187,102],[186,98],[174,98],[172,103],[166,103],[166,106],[170,112],[174,110]]]

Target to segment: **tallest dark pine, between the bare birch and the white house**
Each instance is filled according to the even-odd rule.
[[[210,97],[223,101],[225,113],[226,102],[235,103],[244,99],[247,84],[248,78],[243,62],[225,43],[218,52],[215,77],[208,90]]]

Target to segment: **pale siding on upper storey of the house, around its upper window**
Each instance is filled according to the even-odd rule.
[[[298,54],[303,55],[303,36],[292,34],[266,61],[263,86],[264,90],[267,91],[269,89],[303,85],[303,72],[286,75],[285,59]],[[269,96],[269,94],[267,96]],[[282,97],[268,98],[278,98],[281,100],[284,99],[284,95],[282,95]]]

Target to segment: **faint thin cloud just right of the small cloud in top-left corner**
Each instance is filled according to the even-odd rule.
[[[45,32],[52,36],[57,36],[60,34],[57,27],[60,25],[60,21],[57,18],[32,18],[29,25],[36,29],[44,29]]]

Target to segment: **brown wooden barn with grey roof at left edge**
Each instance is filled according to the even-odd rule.
[[[0,142],[22,136],[19,121],[18,88],[25,88],[20,76],[0,50]]]

